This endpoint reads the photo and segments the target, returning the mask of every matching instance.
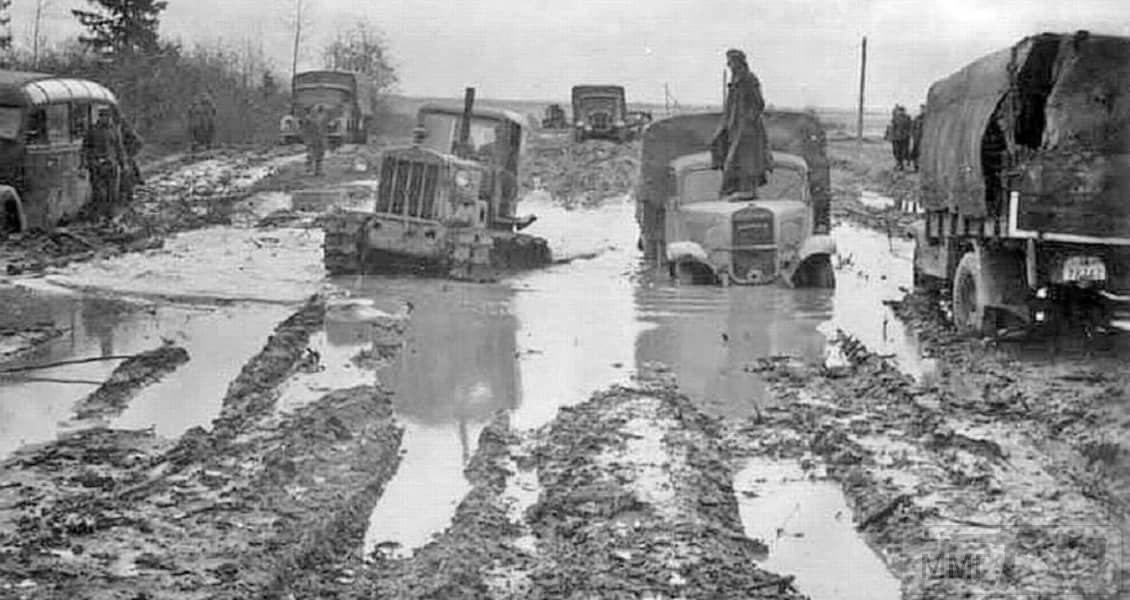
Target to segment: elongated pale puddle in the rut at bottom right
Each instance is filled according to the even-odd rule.
[[[746,534],[770,548],[758,566],[797,576],[812,600],[898,600],[898,580],[852,524],[840,487],[792,463],[749,461],[734,476]],[[754,492],[750,497],[746,492]]]

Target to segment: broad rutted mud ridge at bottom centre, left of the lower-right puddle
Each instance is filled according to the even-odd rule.
[[[628,447],[654,435],[664,455]],[[536,597],[800,598],[754,566],[765,547],[742,533],[728,455],[681,395],[614,389],[563,409],[538,476],[530,519],[549,560],[532,573]]]

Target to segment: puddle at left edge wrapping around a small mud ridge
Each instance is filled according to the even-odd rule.
[[[163,339],[183,346],[189,363],[142,390],[110,423],[124,428],[153,426],[158,435],[173,437],[211,423],[228,382],[262,348],[271,329],[288,312],[282,306],[201,308],[77,299],[54,315],[55,322],[70,331],[41,348],[34,364],[129,355],[153,349]],[[0,458],[20,445],[50,441],[60,433],[93,425],[70,420],[75,405],[96,390],[120,363],[64,365],[29,373],[40,379],[94,383],[0,380]]]

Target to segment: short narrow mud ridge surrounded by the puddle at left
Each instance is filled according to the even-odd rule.
[[[127,358],[110,374],[110,379],[76,407],[79,419],[107,418],[120,415],[145,386],[151,385],[189,362],[189,351],[180,346],[164,345]]]

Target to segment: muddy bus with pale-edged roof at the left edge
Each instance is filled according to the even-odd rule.
[[[82,140],[118,98],[85,79],[0,70],[0,233],[50,229],[90,201]]]

